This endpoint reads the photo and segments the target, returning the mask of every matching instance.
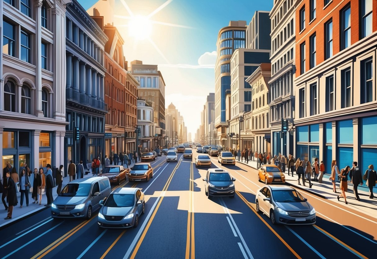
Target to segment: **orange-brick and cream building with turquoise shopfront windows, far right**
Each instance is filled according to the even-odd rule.
[[[315,2],[314,2],[315,3]],[[296,156],[364,172],[377,154],[375,1],[300,1],[296,9]]]

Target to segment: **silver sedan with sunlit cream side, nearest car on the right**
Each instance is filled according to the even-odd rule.
[[[316,223],[316,210],[292,187],[268,185],[260,188],[255,197],[256,211],[269,216],[272,224]]]

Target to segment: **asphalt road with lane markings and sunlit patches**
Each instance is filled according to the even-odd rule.
[[[272,225],[255,211],[255,192],[264,185],[256,170],[221,166],[213,157],[211,168],[236,178],[236,197],[207,199],[207,168],[178,158],[158,157],[149,182],[121,182],[146,194],[137,228],[99,228],[98,211],[90,220],[53,220],[46,209],[0,230],[0,258],[375,258],[376,219],[300,191],[316,208],[317,223]]]

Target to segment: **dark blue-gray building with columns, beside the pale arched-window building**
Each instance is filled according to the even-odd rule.
[[[104,157],[107,106],[104,102],[104,46],[108,37],[83,7],[72,0],[66,12],[66,136],[64,157],[84,167]],[[80,129],[76,140],[74,127]]]

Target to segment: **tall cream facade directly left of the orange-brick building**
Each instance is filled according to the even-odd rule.
[[[315,2],[315,1],[314,1]],[[296,0],[276,0],[271,19],[270,126],[271,154],[293,154],[294,141],[281,134],[281,118],[293,122],[296,75]]]

